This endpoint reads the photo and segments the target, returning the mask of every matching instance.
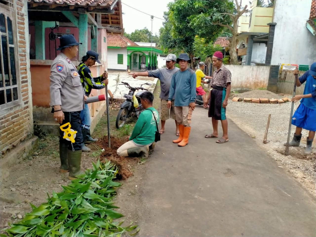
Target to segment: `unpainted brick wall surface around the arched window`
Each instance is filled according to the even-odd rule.
[[[15,57],[18,57],[18,64],[15,67],[20,83],[21,103],[0,115],[0,156],[8,153],[25,139],[33,137],[27,0],[16,0],[15,8],[16,34],[14,37],[15,45],[18,46],[15,48]]]

